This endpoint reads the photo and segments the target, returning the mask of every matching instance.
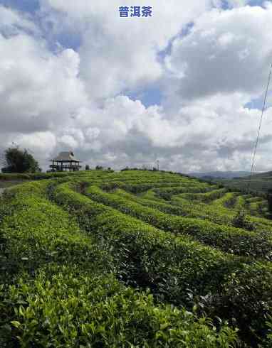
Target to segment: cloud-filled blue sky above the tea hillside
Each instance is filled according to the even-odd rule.
[[[91,168],[250,170],[271,32],[271,1],[0,0],[0,151],[43,170],[60,151]],[[272,87],[256,171],[272,170],[271,104]]]

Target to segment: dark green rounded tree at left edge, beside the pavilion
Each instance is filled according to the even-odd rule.
[[[3,173],[35,173],[41,172],[38,162],[26,149],[21,150],[19,146],[7,148],[4,151]]]

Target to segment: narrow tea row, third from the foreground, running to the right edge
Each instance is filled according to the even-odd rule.
[[[124,197],[107,193],[98,187],[91,186],[86,194],[97,202],[142,219],[148,224],[173,232],[174,234],[188,234],[202,243],[231,252],[241,256],[261,256],[272,259],[272,242],[266,234],[237,229],[235,227],[222,227],[213,222],[202,221],[189,217],[170,216],[151,207],[143,207],[137,202],[132,202]]]

